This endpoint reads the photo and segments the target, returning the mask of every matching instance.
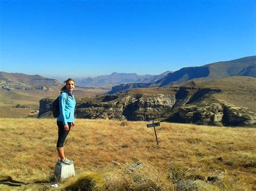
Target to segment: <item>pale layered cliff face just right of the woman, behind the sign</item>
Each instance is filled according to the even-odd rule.
[[[110,100],[104,102],[105,100]],[[130,121],[149,121],[158,119],[175,103],[175,96],[130,94],[120,95],[112,100],[103,96],[77,107],[78,118],[127,119]]]

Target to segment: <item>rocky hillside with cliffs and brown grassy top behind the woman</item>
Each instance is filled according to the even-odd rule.
[[[78,118],[169,121],[219,126],[256,125],[256,78],[235,76],[178,86],[136,88],[77,101]],[[38,117],[51,116],[53,100],[40,101]]]

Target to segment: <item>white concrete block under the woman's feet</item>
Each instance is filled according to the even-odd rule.
[[[75,175],[75,167],[74,164],[71,165],[55,165],[55,175],[58,180],[64,180],[69,176]]]

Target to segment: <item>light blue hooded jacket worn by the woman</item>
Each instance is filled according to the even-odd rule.
[[[69,99],[66,102],[66,94],[68,94]],[[68,89],[65,89],[62,94],[59,96],[59,112],[60,115],[57,118],[57,121],[63,122],[63,125],[68,124],[68,122],[75,121],[75,107],[76,107],[76,100],[73,94],[69,92]]]

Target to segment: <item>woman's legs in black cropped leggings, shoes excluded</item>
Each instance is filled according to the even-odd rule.
[[[68,136],[69,131],[71,129],[71,123],[68,123],[69,125],[69,131],[64,130],[64,125],[62,122],[57,121],[58,125],[58,141],[57,141],[57,152],[59,155],[59,159],[64,161],[65,160],[65,154],[64,154],[64,142],[66,139],[66,136]]]

